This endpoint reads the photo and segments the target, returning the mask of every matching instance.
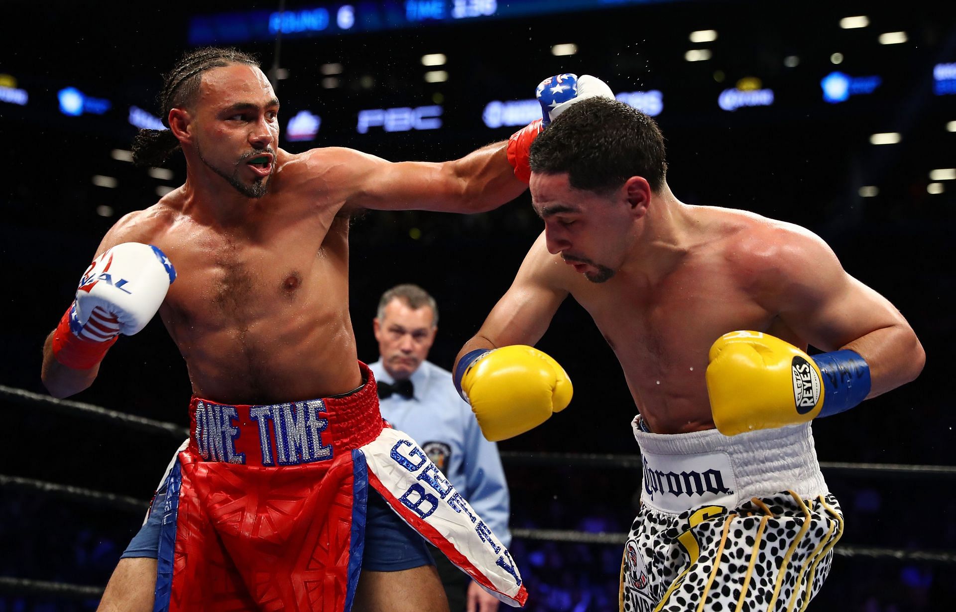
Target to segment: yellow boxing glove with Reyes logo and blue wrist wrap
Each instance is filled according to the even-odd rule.
[[[768,334],[738,331],[717,339],[708,359],[710,412],[728,436],[836,414],[870,392],[869,366],[850,350],[811,358]]]

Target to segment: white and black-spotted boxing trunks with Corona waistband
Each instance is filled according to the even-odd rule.
[[[624,547],[621,612],[806,608],[843,532],[810,424],[730,438],[648,433],[639,419],[641,511]]]

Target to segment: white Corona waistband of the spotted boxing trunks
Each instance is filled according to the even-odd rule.
[[[716,429],[647,433],[635,417],[641,446],[641,502],[680,514],[704,505],[736,508],[751,497],[793,491],[826,494],[810,423],[725,436]]]

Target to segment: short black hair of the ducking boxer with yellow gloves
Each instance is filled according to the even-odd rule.
[[[616,189],[632,176],[657,191],[667,174],[658,124],[609,98],[583,99],[561,113],[532,142],[531,166],[534,172],[567,172],[571,186],[596,192]]]

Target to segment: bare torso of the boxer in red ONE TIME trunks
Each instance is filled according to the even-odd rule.
[[[209,400],[304,400],[360,384],[341,194],[305,197],[283,157],[269,194],[226,223],[180,188],[118,228],[119,241],[155,244],[176,266],[160,316]]]

